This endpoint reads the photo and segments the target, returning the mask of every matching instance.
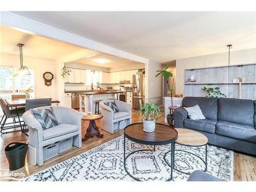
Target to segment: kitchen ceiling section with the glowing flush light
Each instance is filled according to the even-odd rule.
[[[100,61],[103,61],[103,63],[100,63]],[[86,64],[86,65],[104,67],[104,68],[115,68],[115,67],[129,66],[129,65],[134,65],[139,63],[136,61],[131,61],[128,59],[124,59],[124,58],[109,55],[109,54],[100,54],[95,57],[76,60],[75,62]]]

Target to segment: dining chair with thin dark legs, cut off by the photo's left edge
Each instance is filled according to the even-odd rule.
[[[0,104],[1,104],[1,108],[3,110],[3,117],[0,121],[0,125],[1,125],[1,134],[7,134],[7,133],[12,133],[12,132],[17,132],[17,131],[23,131],[23,127],[22,127],[22,120],[20,120],[20,116],[22,116],[25,113],[25,109],[24,108],[17,108],[17,109],[10,109],[8,106],[7,101],[0,97]],[[20,126],[20,130],[14,130],[14,131],[6,131],[5,130],[9,130],[9,129],[13,129],[14,127],[17,127],[18,125],[15,125],[17,122],[13,121],[10,123],[7,123],[6,120],[8,118],[18,118],[18,122],[19,122],[19,126]],[[5,126],[7,125],[8,126]],[[13,125],[9,125],[9,124],[13,124]]]

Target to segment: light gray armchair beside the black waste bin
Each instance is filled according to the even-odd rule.
[[[35,109],[49,107],[42,106]],[[74,109],[66,108],[65,106],[52,106],[52,108],[60,124],[46,130],[42,130],[40,123],[34,118],[31,111],[25,112],[22,116],[29,126],[28,143],[30,146],[36,148],[36,163],[39,166],[44,164],[42,151],[44,146],[74,136],[73,145],[78,148],[82,147],[81,118],[84,114]]]

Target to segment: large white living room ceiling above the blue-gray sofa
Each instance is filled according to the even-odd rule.
[[[159,62],[256,47],[256,12],[14,12]]]

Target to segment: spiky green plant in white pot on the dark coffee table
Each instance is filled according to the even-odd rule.
[[[143,119],[143,127],[145,132],[154,132],[156,128],[156,121],[161,117],[161,111],[156,105],[151,101],[142,104],[139,115]]]

